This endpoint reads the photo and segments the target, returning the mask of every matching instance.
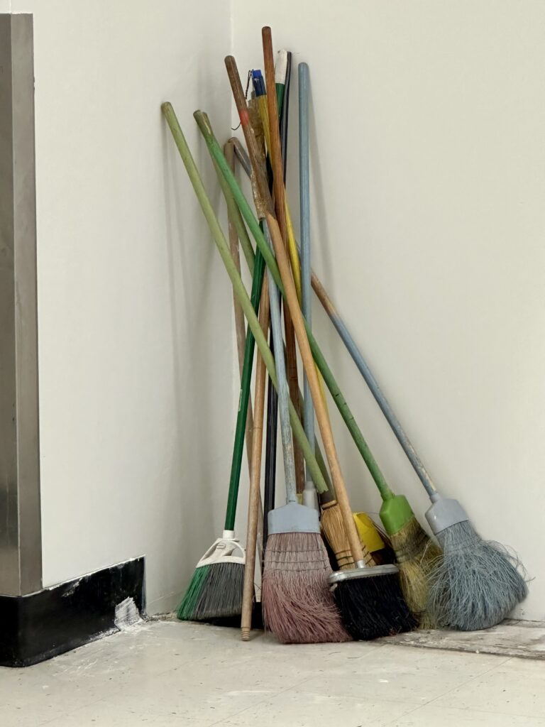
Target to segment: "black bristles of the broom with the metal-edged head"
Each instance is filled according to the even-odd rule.
[[[340,581],[333,593],[344,627],[355,640],[368,641],[416,628],[397,574]]]

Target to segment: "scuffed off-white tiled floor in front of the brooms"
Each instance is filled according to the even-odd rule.
[[[150,622],[0,668],[1,727],[545,727],[545,662]]]

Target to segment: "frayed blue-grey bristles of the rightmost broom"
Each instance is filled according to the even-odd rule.
[[[517,558],[503,545],[483,540],[469,521],[445,528],[437,539],[443,559],[432,573],[429,611],[440,626],[491,628],[526,597]]]

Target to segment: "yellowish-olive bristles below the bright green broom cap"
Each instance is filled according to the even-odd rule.
[[[421,629],[433,629],[437,622],[427,607],[430,575],[440,563],[441,551],[412,518],[400,531],[390,535],[397,558],[400,585],[407,606],[418,620]]]

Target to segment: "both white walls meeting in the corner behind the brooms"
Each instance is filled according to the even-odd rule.
[[[0,1],[35,16],[44,582],[145,554],[148,608],[166,610],[222,529],[230,288],[159,104],[177,108],[217,201],[191,113],[206,108],[225,137],[223,57],[259,67],[269,23],[311,69],[315,268],[437,484],[535,577],[517,615],[544,619],[545,6],[272,7]],[[423,515],[318,308],[315,328],[387,478]],[[352,504],[376,513],[334,419]],[[245,509],[243,492],[241,521]]]

